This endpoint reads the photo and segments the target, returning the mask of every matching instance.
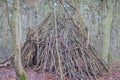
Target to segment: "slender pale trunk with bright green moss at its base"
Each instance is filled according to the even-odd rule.
[[[16,80],[27,80],[26,73],[21,63],[20,34],[19,34],[19,0],[13,0],[12,33],[14,40],[14,66],[16,70]]]

